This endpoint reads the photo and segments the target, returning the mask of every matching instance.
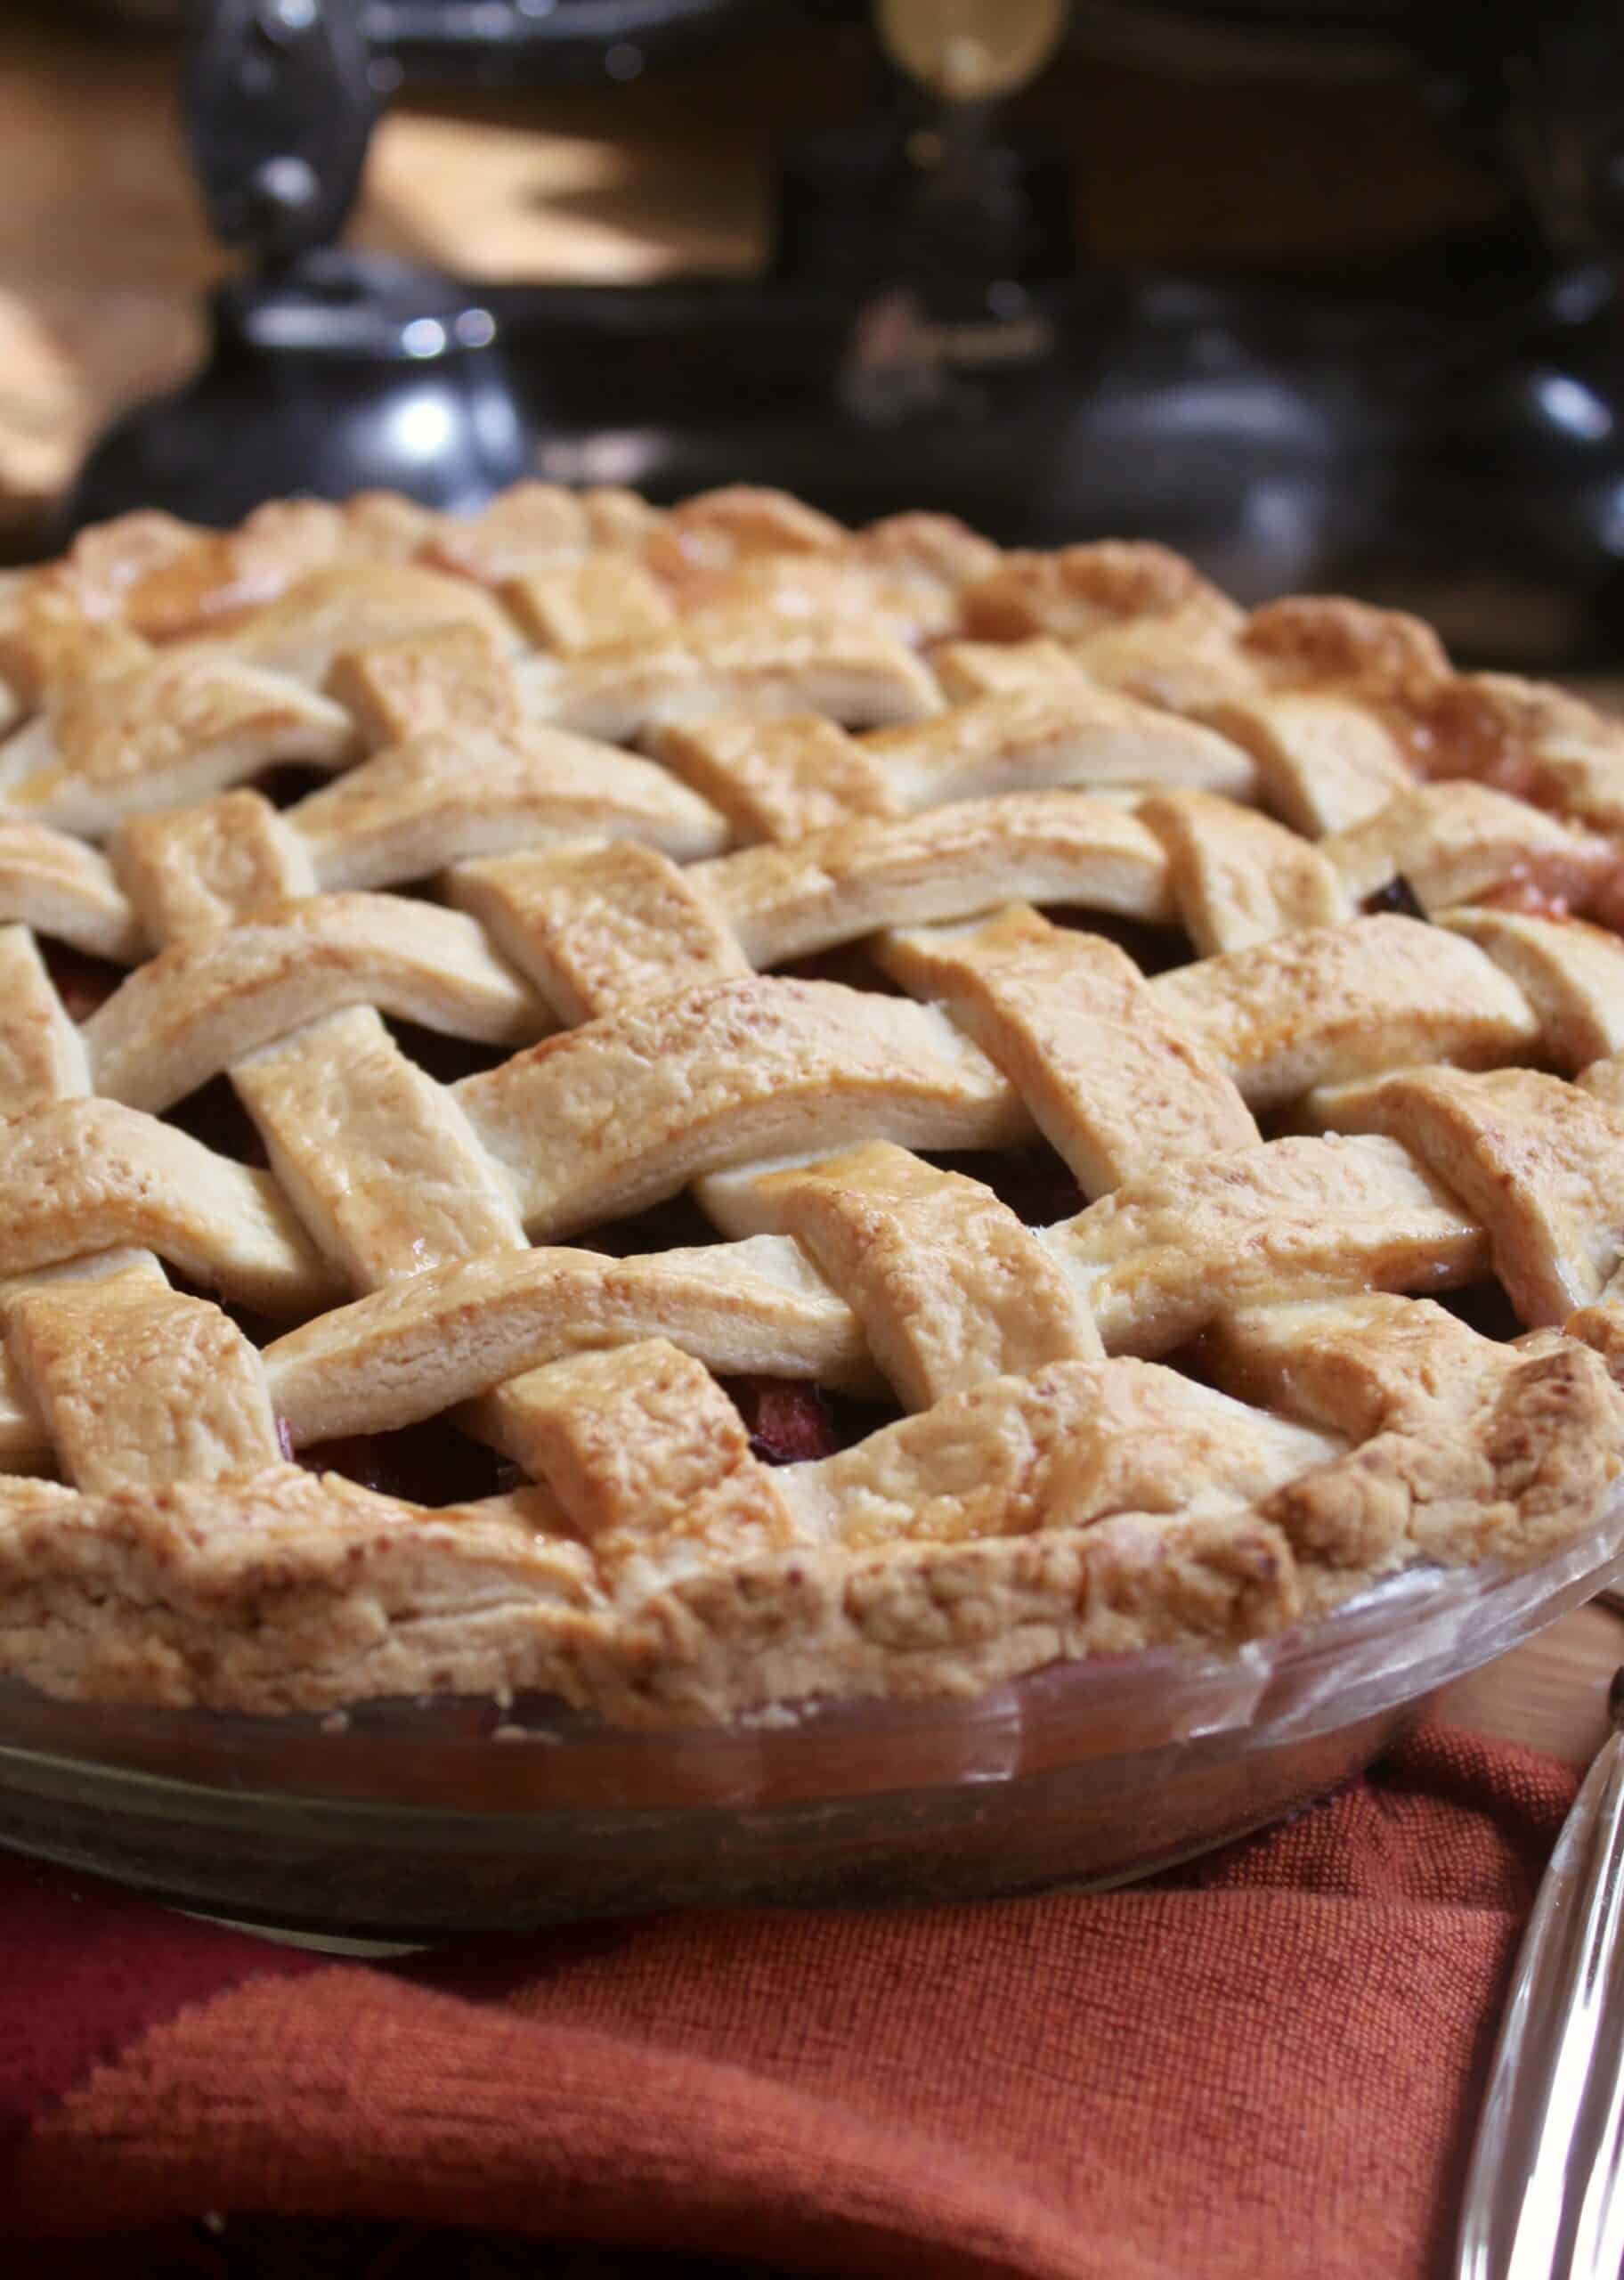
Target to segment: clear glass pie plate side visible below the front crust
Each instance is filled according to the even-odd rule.
[[[645,1908],[1150,1874],[1359,1772],[1442,1685],[1608,1585],[1624,1491],[1537,1566],[1412,1569],[1223,1660],[614,1733],[557,1703],[326,1719],[0,1685],[0,1845],[267,1929],[433,1940]]]

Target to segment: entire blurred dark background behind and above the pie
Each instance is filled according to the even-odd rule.
[[[137,497],[753,479],[1606,668],[1622,14],[11,7],[7,547]]]

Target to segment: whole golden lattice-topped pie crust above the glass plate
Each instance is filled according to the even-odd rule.
[[[0,591],[0,1671],[1232,1648],[1624,1468],[1624,730],[1150,545],[135,515]]]

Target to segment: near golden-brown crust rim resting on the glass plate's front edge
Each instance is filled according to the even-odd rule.
[[[1090,1391],[1102,1368],[1138,1366],[1063,1366]],[[1056,1373],[997,1379],[853,1452],[858,1477],[826,1491],[855,1514],[839,1550],[746,1550],[652,1589],[627,1560],[625,1601],[604,1598],[591,1555],[545,1514],[536,1525],[500,1505],[490,1518],[424,1514],[283,1466],[73,1500],[25,1484],[0,1491],[0,1660],[48,1692],[100,1701],[283,1712],[541,1689],[627,1726],[712,1721],[830,1687],[965,1694],[1090,1653],[1227,1651],[1416,1557],[1537,1557],[1594,1518],[1619,1477],[1619,1395],[1574,1343],[1494,1368],[1448,1434],[1437,1416],[1405,1418],[1348,1455],[1280,1427],[1273,1457],[1266,1439],[1243,1457],[1209,1423],[1216,1411],[1200,1414],[1220,1395],[1152,1375],[1188,1400],[1156,1411],[1154,1432],[1186,1450],[1195,1505],[1166,1509],[1182,1475],[1156,1473],[1138,1389],[1104,1425],[1070,1389],[1056,1407]],[[992,1534],[965,1532],[960,1503],[933,1491],[944,1436],[963,1446],[976,1411],[981,1461],[997,1452],[1010,1468],[1001,1503],[990,1484]],[[903,1439],[894,1459],[876,1448],[908,1434],[924,1441]],[[1293,1477],[1225,1503],[1220,1450],[1236,1496],[1270,1464]],[[892,1482],[924,1516],[924,1539],[885,1534]],[[1136,1491],[1152,1509],[1134,1509]],[[1097,1503],[1111,1509],[1086,1518]]]

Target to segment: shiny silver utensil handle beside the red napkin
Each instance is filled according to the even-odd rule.
[[[1624,1667],[1608,1719],[1517,1956],[1457,2280],[1617,2280],[1624,2259]]]

